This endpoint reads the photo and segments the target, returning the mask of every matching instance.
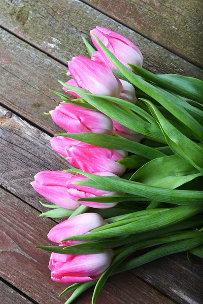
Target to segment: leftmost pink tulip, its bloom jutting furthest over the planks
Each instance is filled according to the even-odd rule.
[[[67,193],[66,182],[73,176],[61,171],[41,171],[31,182],[32,187],[50,202],[67,209],[75,210],[80,204]]]

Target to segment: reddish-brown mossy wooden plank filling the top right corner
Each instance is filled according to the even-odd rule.
[[[203,66],[201,0],[85,0],[189,62]]]

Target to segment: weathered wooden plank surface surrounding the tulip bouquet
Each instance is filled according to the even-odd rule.
[[[201,0],[0,0],[1,5],[1,303],[64,303],[65,285],[54,283],[47,233],[56,220],[38,218],[46,209],[29,184],[42,170],[69,164],[50,147],[62,131],[43,115],[59,102],[49,89],[66,61],[87,55],[81,33],[109,27],[136,43],[144,67],[155,73],[178,73],[203,79]],[[43,200],[45,202],[45,200]],[[201,304],[202,261],[186,254],[161,258],[111,277],[98,304]],[[77,304],[91,303],[92,290]]]

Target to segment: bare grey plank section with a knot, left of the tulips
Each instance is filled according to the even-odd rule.
[[[39,203],[42,197],[30,185],[33,176],[39,171],[63,170],[71,165],[51,149],[50,136],[3,107],[0,134],[0,184],[30,205],[47,211]]]

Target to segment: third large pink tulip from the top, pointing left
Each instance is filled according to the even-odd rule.
[[[65,103],[50,111],[53,121],[69,133],[91,132],[113,134],[113,123],[107,115]]]

